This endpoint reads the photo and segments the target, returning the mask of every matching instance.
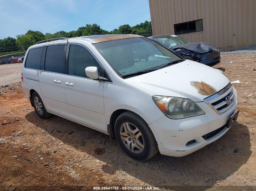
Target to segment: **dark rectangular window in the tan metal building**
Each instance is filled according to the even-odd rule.
[[[203,19],[173,24],[174,34],[188,34],[203,31]]]

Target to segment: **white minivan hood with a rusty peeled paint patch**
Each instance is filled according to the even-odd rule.
[[[229,83],[217,69],[191,60],[125,80],[155,95],[184,97],[194,102],[203,101]]]

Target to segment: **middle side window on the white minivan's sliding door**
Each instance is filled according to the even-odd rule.
[[[47,46],[45,71],[65,73],[65,44]]]

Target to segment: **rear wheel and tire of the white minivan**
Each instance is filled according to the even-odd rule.
[[[46,118],[52,116],[51,113],[48,113],[46,111],[44,103],[42,102],[41,97],[39,96],[39,94],[36,91],[34,91],[32,93],[32,102],[33,102],[35,112],[37,113],[37,115],[39,117],[41,117],[42,119],[46,119]]]

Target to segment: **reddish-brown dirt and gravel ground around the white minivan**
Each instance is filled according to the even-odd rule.
[[[39,118],[21,83],[0,89],[0,189],[255,190],[256,55],[222,54],[214,68],[231,82],[241,82],[233,84],[240,109],[237,122],[220,139],[188,156],[158,153],[145,162],[129,158],[108,135],[58,116]]]

